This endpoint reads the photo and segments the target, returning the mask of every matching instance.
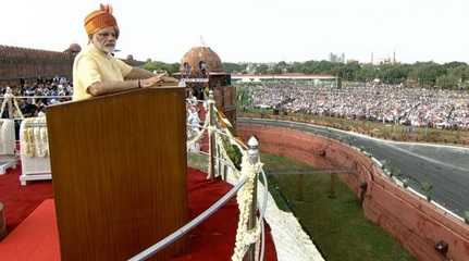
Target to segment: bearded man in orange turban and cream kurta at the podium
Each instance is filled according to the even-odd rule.
[[[120,32],[110,5],[101,4],[99,10],[88,14],[85,29],[89,42],[73,64],[73,100],[177,82],[165,74],[155,75],[133,67],[113,57]]]

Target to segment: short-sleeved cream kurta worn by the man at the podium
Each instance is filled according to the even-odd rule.
[[[73,100],[88,99],[87,88],[98,82],[122,82],[132,66],[89,44],[73,63]]]

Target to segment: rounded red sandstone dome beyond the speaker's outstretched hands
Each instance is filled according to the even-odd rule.
[[[210,47],[194,47],[181,60],[181,72],[192,75],[207,72],[223,72],[220,57]]]

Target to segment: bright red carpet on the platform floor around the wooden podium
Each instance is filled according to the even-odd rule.
[[[206,174],[199,171],[188,171],[187,189],[192,217],[209,208],[231,188],[223,182],[207,182],[205,176]],[[5,204],[8,226],[11,229],[21,223],[0,241],[0,260],[60,260],[53,200],[41,203],[52,197],[51,183],[36,182],[21,187],[17,171],[12,171],[0,176],[0,201]],[[34,210],[35,208],[37,209]],[[190,233],[188,254],[174,260],[230,260],[237,216],[238,210],[233,199]],[[266,249],[266,260],[276,260],[270,233],[267,233]]]

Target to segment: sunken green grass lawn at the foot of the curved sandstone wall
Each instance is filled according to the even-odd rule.
[[[330,198],[329,174],[273,154],[262,154],[261,161],[275,201],[281,209],[294,212],[325,260],[416,260],[391,235],[366,220],[358,199],[338,178],[336,197]]]

